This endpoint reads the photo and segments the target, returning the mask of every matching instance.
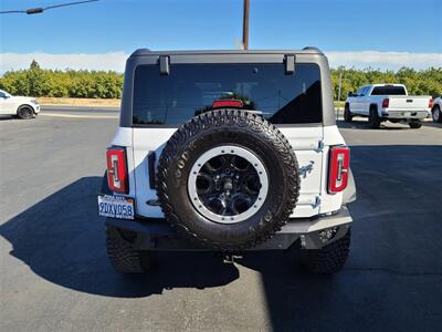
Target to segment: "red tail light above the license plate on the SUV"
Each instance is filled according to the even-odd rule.
[[[119,194],[129,191],[127,177],[126,149],[112,146],[107,148],[107,184],[109,189]]]

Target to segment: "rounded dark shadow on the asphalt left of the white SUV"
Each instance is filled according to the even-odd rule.
[[[10,255],[59,286],[107,297],[138,298],[165,289],[203,289],[239,278],[211,253],[164,253],[145,276],[124,276],[108,262],[104,219],[97,216],[102,177],[83,177],[0,226]]]

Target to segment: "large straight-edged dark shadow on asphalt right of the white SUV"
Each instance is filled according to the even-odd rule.
[[[351,147],[358,199],[349,260],[334,276],[295,255],[240,261],[261,273],[273,331],[441,331],[441,145]],[[429,172],[430,170],[430,172]]]

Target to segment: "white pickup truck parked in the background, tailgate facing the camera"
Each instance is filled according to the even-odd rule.
[[[406,122],[411,128],[420,128],[422,120],[431,114],[432,104],[429,95],[408,95],[403,84],[365,85],[348,94],[344,120],[351,122],[355,115],[360,115],[368,117],[372,128],[379,128],[383,121]]]

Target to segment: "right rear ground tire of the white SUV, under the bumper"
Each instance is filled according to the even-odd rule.
[[[301,263],[309,272],[332,274],[340,271],[350,252],[351,229],[335,242],[318,250],[301,250]]]

